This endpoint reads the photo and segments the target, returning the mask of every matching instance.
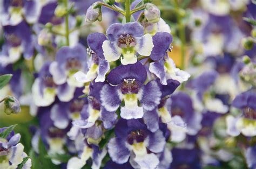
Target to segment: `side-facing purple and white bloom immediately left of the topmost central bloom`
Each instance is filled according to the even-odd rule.
[[[87,37],[87,53],[91,55],[89,71],[85,73],[77,72],[74,76],[78,82],[104,82],[105,75],[110,69],[109,62],[104,58],[102,45],[107,40],[103,33],[92,33]]]

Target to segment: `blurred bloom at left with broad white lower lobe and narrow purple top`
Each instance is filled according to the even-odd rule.
[[[45,62],[32,86],[32,96],[35,104],[39,107],[48,106],[55,101],[56,95],[60,101],[68,102],[73,98],[75,87],[68,83],[57,85],[50,73],[52,62]]]

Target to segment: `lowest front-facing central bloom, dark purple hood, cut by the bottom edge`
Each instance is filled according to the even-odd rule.
[[[130,158],[134,168],[156,168],[159,164],[157,153],[164,151],[165,137],[157,130],[150,132],[141,119],[120,119],[114,131],[116,137],[107,144],[112,161],[124,164]]]

